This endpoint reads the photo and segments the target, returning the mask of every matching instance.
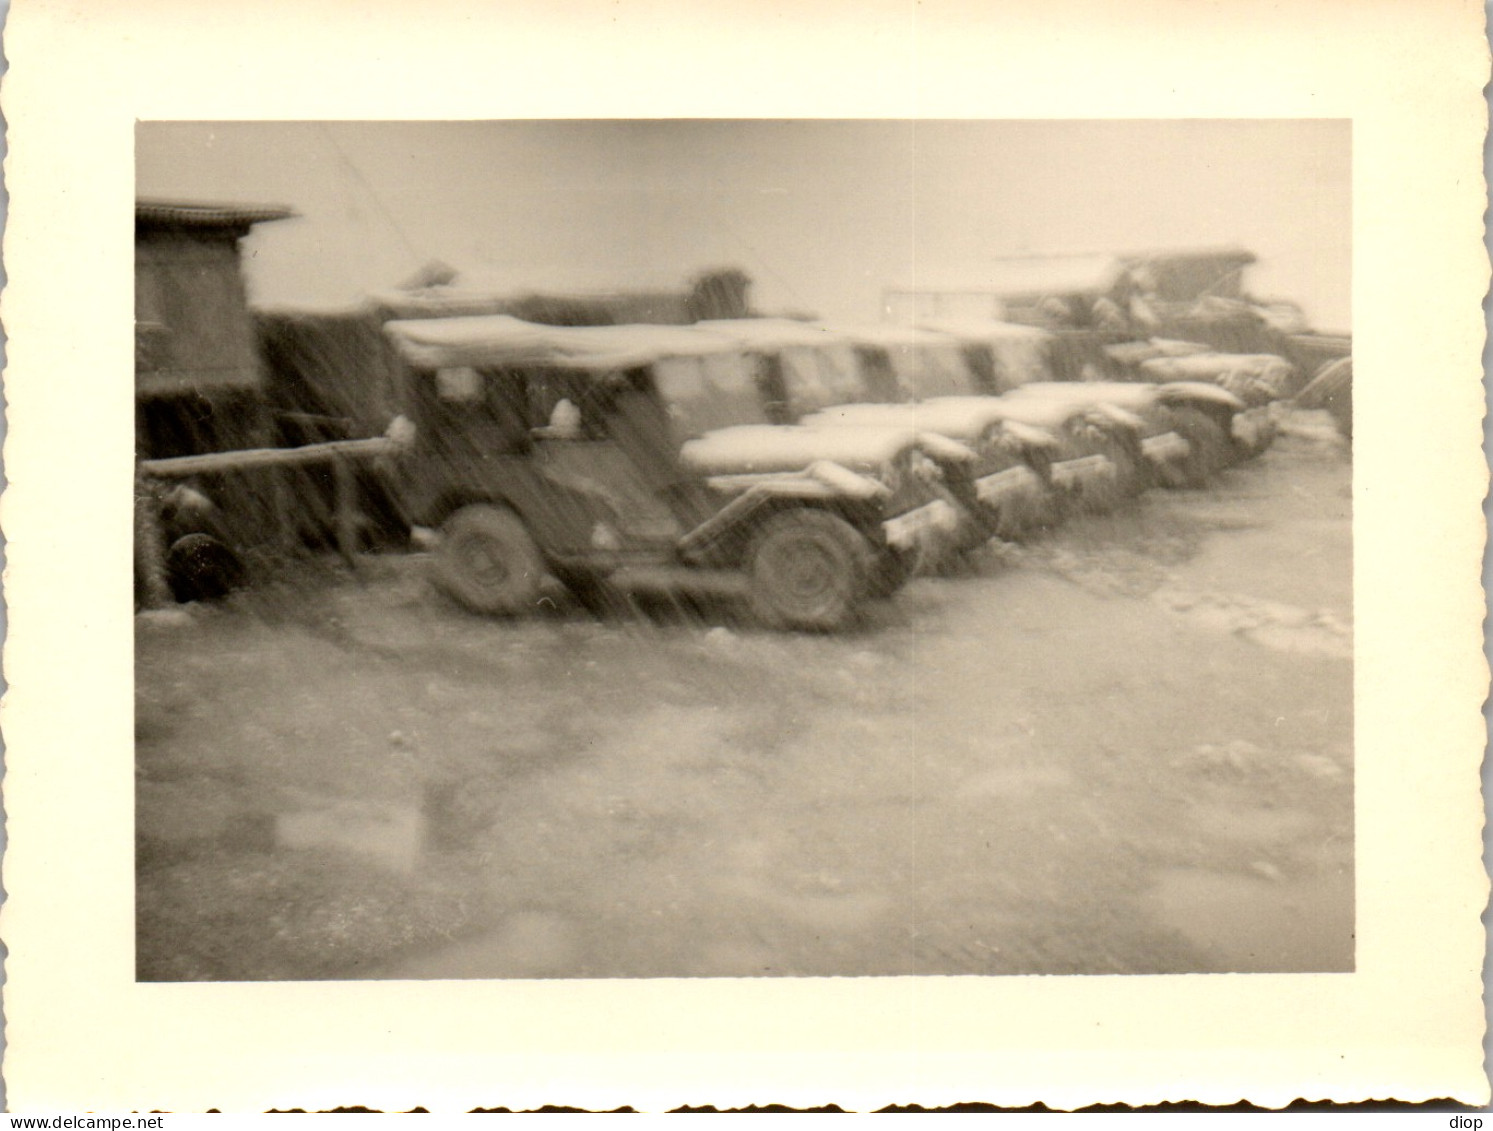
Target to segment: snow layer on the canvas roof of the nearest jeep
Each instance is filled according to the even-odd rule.
[[[417,369],[555,366],[630,369],[669,357],[723,354],[730,339],[678,325],[540,325],[509,315],[394,321],[384,327]]]

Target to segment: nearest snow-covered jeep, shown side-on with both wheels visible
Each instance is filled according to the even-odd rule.
[[[533,607],[546,574],[585,594],[646,566],[745,577],[764,622],[833,630],[956,521],[911,431],[761,424],[764,375],[709,331],[493,315],[387,333],[411,519],[440,530],[436,582],[478,612]]]

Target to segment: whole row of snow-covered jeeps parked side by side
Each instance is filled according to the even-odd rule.
[[[730,571],[754,613],[835,630],[991,537],[1021,539],[1259,455],[1274,355],[1073,343],[1002,322],[396,321],[400,479],[437,585],[482,613],[639,567]]]

